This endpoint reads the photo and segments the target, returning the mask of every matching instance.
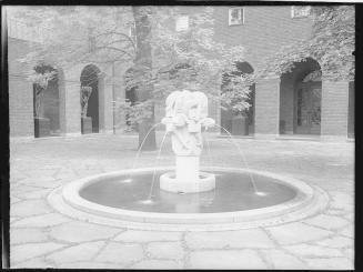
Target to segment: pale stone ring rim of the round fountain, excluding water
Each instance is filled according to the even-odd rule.
[[[71,216],[91,218],[90,221],[97,221],[105,223],[108,225],[120,225],[122,222],[128,225],[144,224],[151,229],[160,229],[160,225],[167,229],[233,229],[238,225],[244,228],[246,225],[271,225],[282,223],[286,221],[294,221],[299,218],[306,218],[319,210],[322,210],[327,204],[326,194],[315,187],[315,190],[307,185],[305,182],[296,180],[294,178],[271,173],[260,170],[251,169],[235,169],[235,168],[202,168],[202,171],[221,171],[221,172],[236,172],[245,173],[251,172],[259,175],[272,178],[274,182],[282,183],[288,187],[292,187],[298,190],[298,194],[290,201],[271,205],[266,208],[252,209],[245,211],[233,212],[218,212],[218,213],[157,213],[157,212],[141,212],[132,210],[123,210],[118,208],[105,206],[88,201],[79,195],[79,191],[85,185],[98,182],[102,179],[111,179],[117,177],[124,177],[132,173],[145,173],[151,171],[170,171],[174,167],[160,167],[160,168],[142,168],[132,170],[121,170],[114,172],[108,172],[97,174],[88,178],[83,178],[77,181],[72,181],[62,188],[53,190],[48,197],[49,203],[56,210],[62,210],[62,213],[67,213]],[[317,190],[316,190],[317,189]],[[58,199],[56,200],[54,198]],[[59,198],[61,197],[61,198]],[[62,202],[60,204],[60,202]],[[62,205],[59,209],[58,205]],[[77,215],[78,214],[78,215]],[[87,219],[88,220],[88,219]],[[120,222],[118,222],[120,221]],[[212,226],[212,228],[211,228]]]

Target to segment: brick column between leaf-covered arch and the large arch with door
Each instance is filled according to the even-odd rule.
[[[279,135],[280,78],[260,79],[256,82],[254,121],[256,138]]]

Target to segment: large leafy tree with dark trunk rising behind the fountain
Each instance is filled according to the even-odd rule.
[[[49,60],[63,68],[80,62],[133,64],[128,88],[137,89],[138,102],[121,101],[139,123],[139,145],[153,125],[154,104],[173,90],[194,87],[210,99],[219,100],[223,73],[243,61],[242,47],[226,47],[213,39],[213,8],[194,8],[189,28],[175,31],[173,22],[181,7],[29,7],[18,9],[18,17],[33,24],[47,26],[51,32],[41,47],[23,61]],[[128,33],[135,24],[135,40]],[[64,42],[67,41],[67,42]],[[248,89],[243,89],[248,91]],[[244,101],[241,101],[244,103]],[[149,139],[150,138],[150,139]],[[154,131],[144,149],[155,149]]]

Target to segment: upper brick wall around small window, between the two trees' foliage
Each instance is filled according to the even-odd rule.
[[[245,59],[254,70],[265,57],[311,33],[310,18],[291,18],[291,6],[246,6],[244,24],[229,26],[229,7],[215,7],[215,39],[245,48]]]

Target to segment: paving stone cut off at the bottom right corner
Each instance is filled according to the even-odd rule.
[[[304,259],[311,269],[353,270],[354,262],[347,258]]]

